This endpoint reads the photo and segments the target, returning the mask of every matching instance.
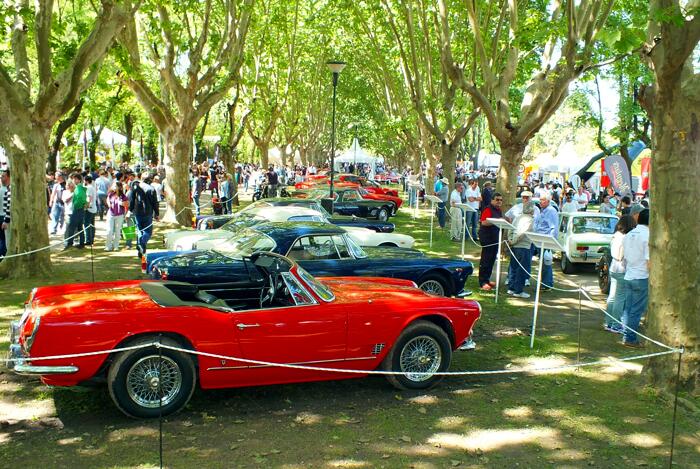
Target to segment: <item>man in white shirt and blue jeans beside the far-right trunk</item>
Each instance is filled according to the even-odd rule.
[[[622,324],[625,332],[622,344],[638,348],[636,331],[647,309],[649,299],[649,210],[639,213],[637,227],[625,235],[622,241],[625,259],[625,309],[622,312]]]

